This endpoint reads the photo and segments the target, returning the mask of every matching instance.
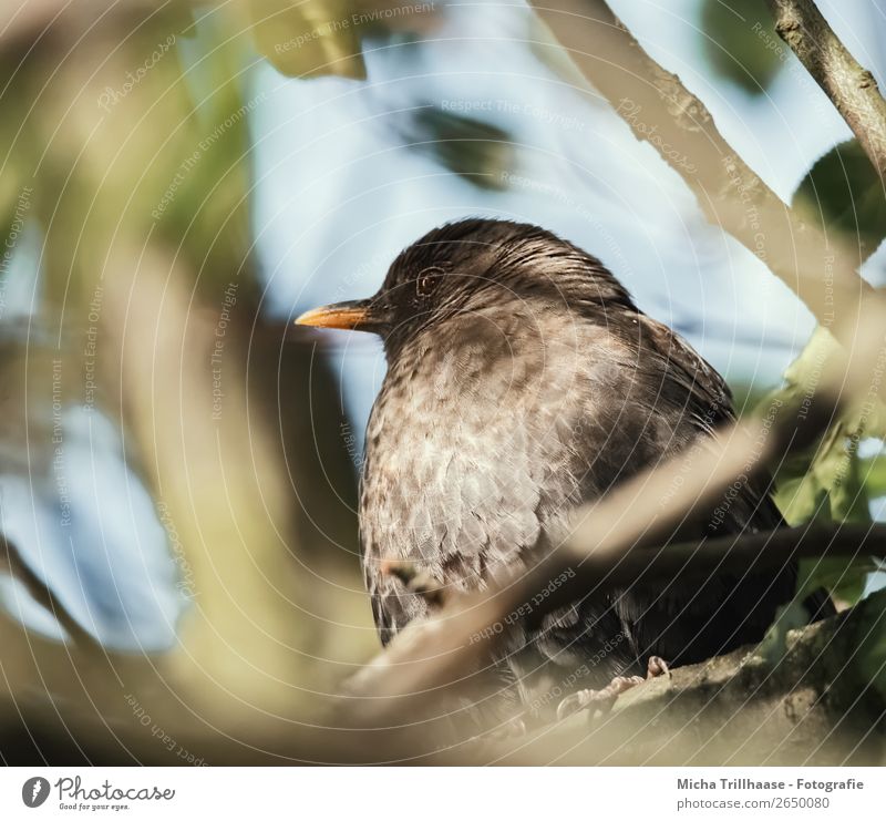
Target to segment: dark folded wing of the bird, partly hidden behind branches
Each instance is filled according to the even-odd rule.
[[[704,447],[718,428],[734,420],[729,388],[667,326],[640,315],[639,335],[635,379],[643,390],[637,397],[642,402],[646,396],[646,414],[666,429],[648,438],[658,448],[655,459],[677,455],[688,441]],[[770,489],[765,473],[733,484],[710,523],[700,525],[699,536],[781,526]],[[790,599],[795,579],[793,562],[774,573],[749,566],[746,572],[705,575],[692,589],[656,586],[616,593],[616,609],[638,656],[655,653],[688,663],[759,640],[776,607]]]

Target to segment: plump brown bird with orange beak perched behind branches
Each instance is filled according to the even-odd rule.
[[[384,645],[432,607],[391,563],[457,592],[506,584],[556,550],[579,506],[735,419],[712,366],[599,259],[536,225],[436,227],[396,256],[373,297],[296,321],[382,339],[359,523]],[[783,525],[761,475],[697,535]],[[496,687],[533,721],[554,707],[563,717],[611,705],[650,675],[760,642],[796,578],[787,562],[691,587],[589,592],[538,624],[507,626],[491,660]],[[808,607],[826,612],[821,597]]]

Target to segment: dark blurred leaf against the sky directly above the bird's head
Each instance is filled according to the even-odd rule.
[[[412,117],[408,140],[451,172],[481,188],[503,188],[515,163],[511,135],[496,125],[435,106]]]

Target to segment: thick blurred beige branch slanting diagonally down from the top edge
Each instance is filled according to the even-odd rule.
[[[744,163],[704,104],[652,60],[604,0],[533,3],[573,61],[683,178],[713,225],[762,259],[825,327],[851,321],[869,290],[861,252],[805,224]],[[844,331],[835,330],[845,341]]]

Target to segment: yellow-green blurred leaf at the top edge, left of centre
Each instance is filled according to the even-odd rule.
[[[350,0],[250,0],[249,11],[256,47],[281,74],[365,78]]]

